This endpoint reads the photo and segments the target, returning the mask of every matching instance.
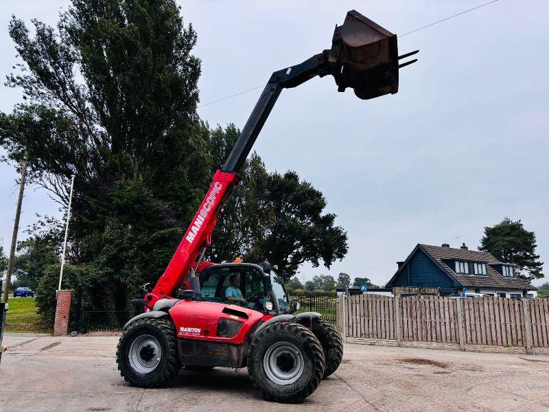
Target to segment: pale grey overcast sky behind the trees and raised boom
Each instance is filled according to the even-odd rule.
[[[17,61],[11,14],[54,24],[62,0],[3,0],[0,75]],[[404,34],[482,4],[474,1],[180,1],[198,32],[201,104],[261,86],[270,73],[329,48],[355,9]],[[399,93],[359,100],[331,77],[283,91],[255,145],[268,169],[296,170],[321,190],[349,253],[330,271],[385,284],[417,243],[476,249],[483,228],[522,219],[549,260],[549,3],[500,0],[399,39],[420,49]],[[198,109],[211,126],[242,128],[261,89]],[[0,86],[0,110],[21,91]],[[0,238],[9,248],[16,174],[0,165]],[[43,190],[25,192],[21,229],[34,214],[59,215]],[[20,235],[20,239],[24,235]],[[549,263],[549,262],[548,262]],[[546,268],[547,271],[547,268]],[[543,282],[543,281],[542,281]],[[533,282],[536,285],[540,281]]]

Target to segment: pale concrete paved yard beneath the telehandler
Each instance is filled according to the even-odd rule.
[[[302,404],[264,402],[246,370],[182,371],[129,387],[116,336],[4,336],[0,411],[549,411],[549,356],[346,345],[336,374]]]

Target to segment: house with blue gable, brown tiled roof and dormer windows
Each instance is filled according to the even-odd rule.
[[[412,286],[441,288],[444,295],[482,293],[495,297],[537,297],[537,288],[515,276],[515,265],[500,262],[490,253],[417,244],[386,288]]]

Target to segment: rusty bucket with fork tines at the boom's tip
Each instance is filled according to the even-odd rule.
[[[331,44],[328,62],[338,91],[351,87],[361,99],[397,93],[399,58],[417,53],[399,56],[397,35],[355,10],[347,13],[343,25],[336,26]]]

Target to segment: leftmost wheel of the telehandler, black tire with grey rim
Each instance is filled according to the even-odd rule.
[[[131,323],[118,343],[116,362],[130,385],[150,388],[177,376],[177,334],[169,319],[139,319]]]

